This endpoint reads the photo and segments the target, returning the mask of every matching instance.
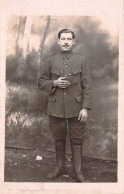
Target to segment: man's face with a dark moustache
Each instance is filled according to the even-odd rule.
[[[58,44],[62,51],[70,51],[72,46],[75,44],[75,40],[71,33],[62,33],[60,39],[58,39]]]

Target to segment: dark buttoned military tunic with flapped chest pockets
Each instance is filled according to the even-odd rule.
[[[66,77],[66,89],[54,88],[53,80]],[[82,108],[91,109],[91,78],[86,59],[71,52],[49,57],[42,66],[39,88],[48,93],[48,115],[78,117]]]

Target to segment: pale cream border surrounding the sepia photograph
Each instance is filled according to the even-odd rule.
[[[124,26],[122,0],[0,1],[0,193],[124,193]],[[6,21],[9,15],[99,16],[106,7],[119,18],[118,183],[4,183]],[[114,18],[113,18],[114,19]]]

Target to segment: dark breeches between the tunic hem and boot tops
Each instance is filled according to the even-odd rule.
[[[59,118],[49,115],[49,126],[55,141],[65,140],[67,128],[69,139],[72,144],[82,144],[85,124],[78,121],[78,117]]]

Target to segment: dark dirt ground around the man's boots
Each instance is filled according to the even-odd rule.
[[[38,159],[38,160],[36,160]],[[117,163],[83,157],[83,172],[90,182],[117,182]],[[55,167],[55,153],[46,150],[5,149],[5,182],[76,182],[71,155],[66,154],[66,172],[56,180],[47,174]]]

